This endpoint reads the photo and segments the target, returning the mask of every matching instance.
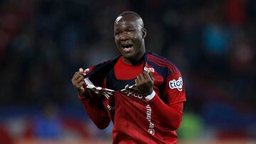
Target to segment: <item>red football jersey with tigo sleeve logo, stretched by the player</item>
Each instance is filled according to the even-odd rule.
[[[113,121],[113,143],[177,143],[175,130],[181,123],[186,101],[181,73],[171,62],[152,53],[146,55],[144,70],[154,77],[156,95],[150,101],[136,87],[121,91],[87,87],[91,89],[90,96],[80,99],[96,126],[105,128]]]

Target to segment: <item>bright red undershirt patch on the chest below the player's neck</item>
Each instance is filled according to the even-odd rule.
[[[114,75],[117,79],[134,79],[143,71],[142,62],[140,65],[129,65],[124,63],[122,57],[119,58],[116,65],[114,65]]]

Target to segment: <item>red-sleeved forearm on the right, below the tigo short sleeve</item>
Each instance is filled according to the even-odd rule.
[[[171,131],[175,131],[178,126],[180,126],[183,102],[167,105],[159,96],[155,95],[154,98],[149,101],[149,105],[151,106],[152,112],[156,113],[160,126],[170,128]]]

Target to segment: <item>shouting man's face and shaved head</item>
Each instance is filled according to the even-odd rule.
[[[136,16],[119,16],[114,23],[114,40],[125,60],[137,61],[142,58],[145,36],[143,22]]]

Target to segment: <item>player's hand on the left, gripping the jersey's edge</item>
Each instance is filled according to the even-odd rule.
[[[83,87],[85,85],[84,76],[85,72],[82,70],[82,68],[80,68],[79,72],[75,72],[73,78],[71,79],[73,86],[78,89],[78,93],[80,96],[86,96],[87,93],[87,91]]]

